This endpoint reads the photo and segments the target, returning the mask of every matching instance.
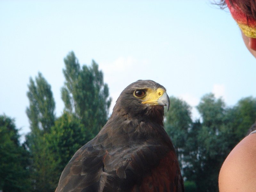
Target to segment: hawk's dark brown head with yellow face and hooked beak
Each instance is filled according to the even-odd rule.
[[[138,80],[128,85],[120,94],[113,113],[122,116],[164,116],[164,106],[169,109],[166,89],[152,80]]]

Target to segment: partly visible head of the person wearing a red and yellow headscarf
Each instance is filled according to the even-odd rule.
[[[220,5],[228,6],[242,31],[246,47],[256,58],[256,0],[220,0]]]

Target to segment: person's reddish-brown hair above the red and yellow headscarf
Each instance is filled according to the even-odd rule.
[[[256,1],[255,0],[228,0],[232,6],[237,4],[238,7],[248,16],[256,20]],[[226,7],[226,1],[220,0],[219,3],[221,9]]]

